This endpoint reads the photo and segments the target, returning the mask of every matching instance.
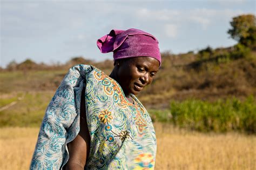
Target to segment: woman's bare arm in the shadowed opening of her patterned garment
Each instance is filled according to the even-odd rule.
[[[69,161],[63,169],[84,169],[86,158],[89,156],[90,134],[86,121],[84,92],[85,89],[83,89],[81,95],[80,131],[77,137],[68,144]]]

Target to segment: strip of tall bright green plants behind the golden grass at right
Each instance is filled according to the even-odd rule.
[[[232,130],[256,133],[256,102],[253,96],[246,101],[237,98],[218,100],[171,101],[170,110],[174,125],[201,132]]]

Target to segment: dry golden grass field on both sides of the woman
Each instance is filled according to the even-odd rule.
[[[156,169],[256,169],[256,137],[202,134],[155,124]],[[0,129],[0,169],[28,169],[38,128]]]

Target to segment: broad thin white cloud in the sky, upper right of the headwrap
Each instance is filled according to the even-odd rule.
[[[200,24],[203,30],[206,30],[213,22],[230,21],[232,17],[244,13],[242,10],[231,9],[190,9],[172,10],[172,9],[139,9],[136,17],[139,20],[148,22],[158,22],[163,25],[166,23],[184,25],[186,22]]]

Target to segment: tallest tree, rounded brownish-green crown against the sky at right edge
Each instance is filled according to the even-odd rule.
[[[256,18],[252,14],[234,17],[230,22],[232,28],[227,31],[231,38],[240,44],[255,47],[256,45]]]

